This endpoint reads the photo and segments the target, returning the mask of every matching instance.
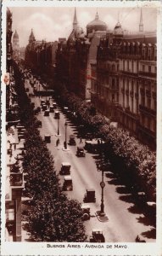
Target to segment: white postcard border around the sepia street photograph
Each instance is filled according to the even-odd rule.
[[[1,157],[2,157],[2,231],[1,231],[1,254],[2,255],[143,255],[143,256],[161,256],[162,255],[162,175],[161,175],[161,161],[162,161],[162,55],[161,55],[161,46],[162,46],[162,5],[160,1],[99,1],[99,0],[88,0],[88,1],[68,1],[68,0],[3,0],[3,8],[2,8],[2,27],[3,27],[3,35],[2,35],[2,74],[6,72],[5,70],[5,60],[6,60],[6,7],[46,7],[56,6],[56,7],[133,7],[133,6],[142,6],[142,7],[157,7],[158,17],[157,17],[157,34],[158,34],[158,60],[157,60],[157,72],[158,72],[158,82],[157,82],[157,102],[158,102],[158,110],[157,110],[157,190],[159,197],[157,198],[158,202],[158,222],[157,222],[157,240],[153,243],[105,243],[104,249],[88,249],[85,248],[85,243],[77,243],[77,245],[81,245],[81,248],[69,248],[66,247],[68,243],[57,243],[64,244],[65,248],[55,248],[55,247],[47,247],[46,242],[5,242],[4,240],[4,228],[5,228],[5,159],[6,159],[6,134],[5,134],[5,84],[2,81],[2,148],[1,148]],[[50,242],[50,245],[54,245],[55,243]],[[75,245],[76,243],[71,243]],[[115,244],[124,244],[127,246],[126,249],[109,249],[107,245],[112,245],[114,247]]]

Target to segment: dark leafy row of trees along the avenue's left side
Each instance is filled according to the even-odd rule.
[[[27,214],[28,231],[34,241],[86,241],[81,205],[68,199],[60,186],[53,157],[37,129],[22,77],[19,68],[14,65],[20,120],[26,128],[23,169],[27,177],[25,193],[31,197]]]

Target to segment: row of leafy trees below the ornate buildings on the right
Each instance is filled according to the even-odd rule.
[[[60,84],[59,96],[60,103],[75,111],[85,127],[107,143],[105,154],[115,169],[118,169],[118,172],[125,172],[127,177],[133,177],[135,183],[148,194],[149,200],[155,200],[155,152],[132,137],[129,131],[120,127],[112,128],[109,121],[97,113],[90,102],[82,101]]]

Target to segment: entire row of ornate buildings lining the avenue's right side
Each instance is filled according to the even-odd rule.
[[[25,61],[36,70],[55,75],[68,90],[91,101],[100,113],[154,148],[156,34],[144,32],[142,9],[139,15],[137,33],[123,31],[119,20],[114,30],[108,31],[98,13],[85,33],[75,9],[69,38],[37,42],[31,32]]]

